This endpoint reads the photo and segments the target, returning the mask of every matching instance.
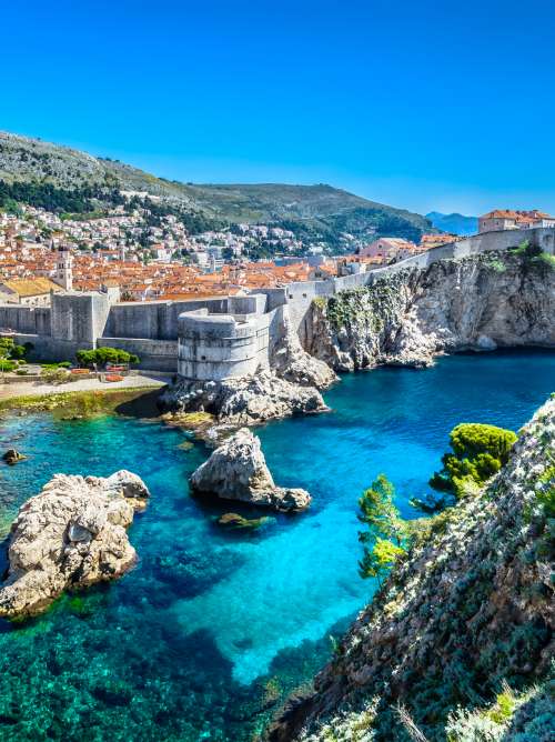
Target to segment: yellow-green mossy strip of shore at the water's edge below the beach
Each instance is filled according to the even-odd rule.
[[[158,390],[154,390],[158,392]],[[130,403],[140,404],[141,398],[151,398],[152,387],[107,389],[101,391],[56,392],[27,394],[0,400],[0,412],[51,412],[62,420],[95,418],[124,413]]]

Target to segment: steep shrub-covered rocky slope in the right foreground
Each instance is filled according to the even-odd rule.
[[[549,706],[546,686],[523,696],[516,713],[511,692],[505,705],[513,709],[483,710],[500,702],[505,681],[529,689],[549,672],[554,462],[552,399],[490,485],[442,514],[397,564],[313,694],[290,702],[272,742],[408,740],[398,704],[430,741],[553,739],[545,735],[553,715],[542,716],[543,729],[531,726]],[[477,723],[493,731],[473,735]]]

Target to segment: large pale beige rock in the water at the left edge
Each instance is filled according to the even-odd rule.
[[[149,497],[144,482],[124,470],[107,479],[56,474],[12,524],[0,615],[33,615],[65,589],[123,574],[137,559],[125,529]]]

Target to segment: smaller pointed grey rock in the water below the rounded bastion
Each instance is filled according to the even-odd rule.
[[[275,485],[260,439],[246,428],[238,430],[199,467],[191,477],[191,488],[283,512],[304,510],[311,502],[305,490]]]

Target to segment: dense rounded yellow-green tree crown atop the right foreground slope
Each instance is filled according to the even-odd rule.
[[[462,423],[451,431],[450,440],[453,453],[445,453],[443,469],[435,472],[430,485],[461,498],[500,471],[508,460],[516,434],[495,425]]]

